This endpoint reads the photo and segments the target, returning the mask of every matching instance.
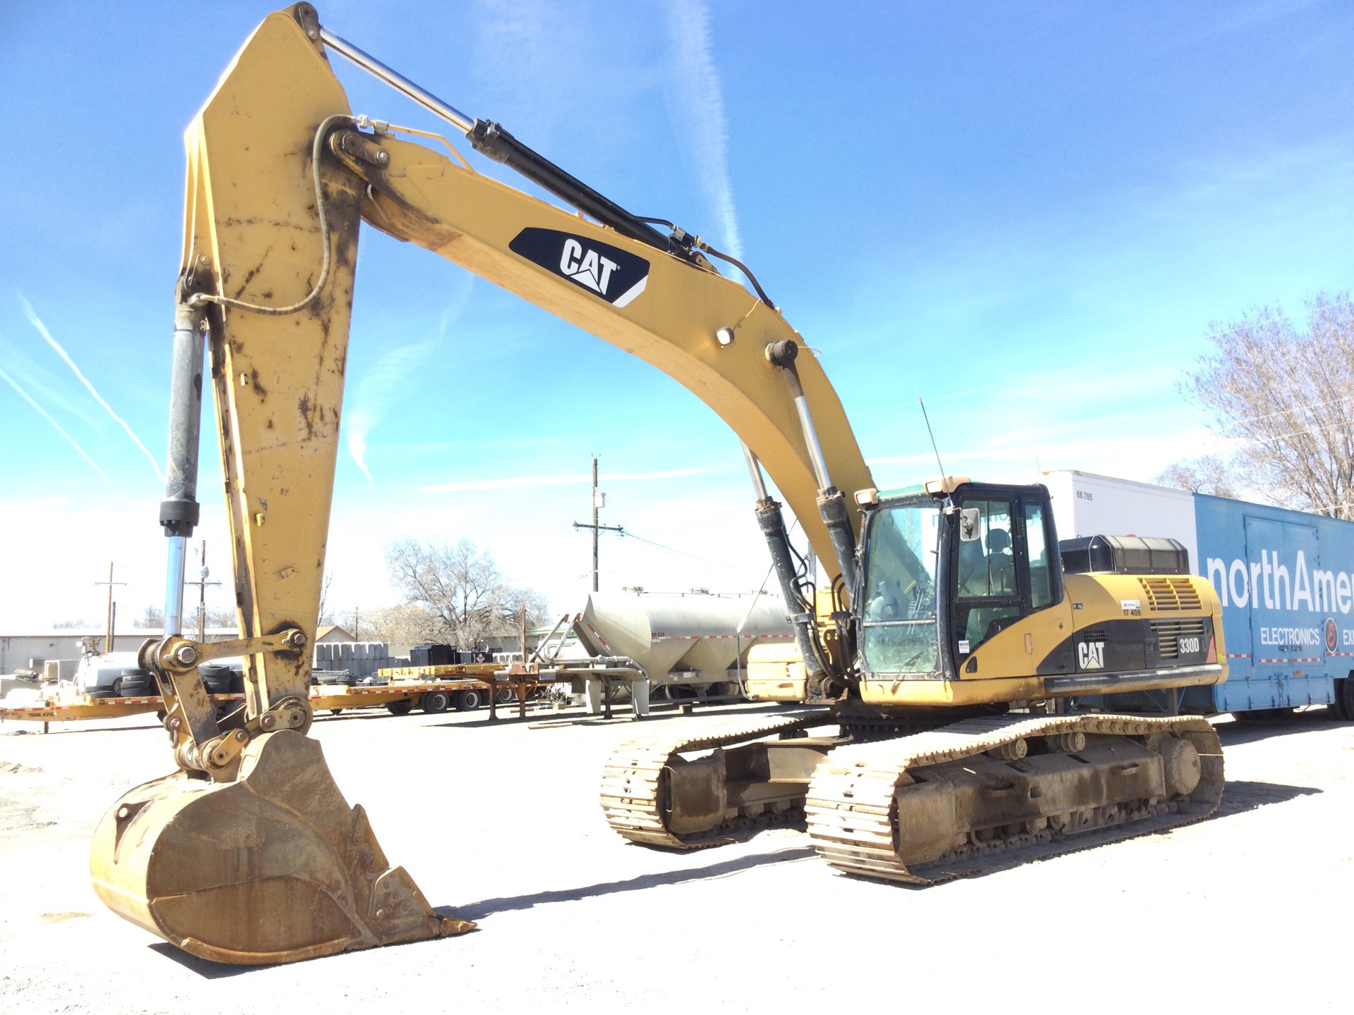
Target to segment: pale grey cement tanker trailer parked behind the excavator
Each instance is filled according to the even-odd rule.
[[[753,646],[793,641],[779,595],[590,593],[574,618],[566,659],[624,656],[649,678],[653,700],[742,696]],[[594,698],[600,689],[592,689]]]

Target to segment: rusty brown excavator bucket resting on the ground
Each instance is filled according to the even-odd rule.
[[[99,823],[89,866],[110,909],[214,962],[291,962],[475,926],[440,916],[387,863],[320,744],[290,729],[250,740],[234,782],[179,773],[129,792]]]

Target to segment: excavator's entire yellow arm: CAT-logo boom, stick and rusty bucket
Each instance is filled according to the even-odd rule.
[[[439,915],[390,867],[363,809],[348,807],[306,736],[360,221],[680,380],[742,437],[754,471],[765,466],[825,560],[833,540],[814,502],[823,457],[842,489],[871,486],[812,357],[798,364],[798,378],[821,447],[806,443],[783,368],[765,353],[796,334],[765,294],[715,272],[693,237],[630,217],[498,125],[431,104],[403,78],[393,83],[459,116],[475,148],[598,221],[353,116],[326,46],[398,78],[297,4],[259,26],[185,134],[161,505],[171,547],[167,636],[142,650],[164,685],[180,771],[119,800],[91,854],[95,889],[114,911],[222,962],[291,961],[473,926]],[[181,589],[209,376],[240,639],[199,646],[180,635]],[[237,654],[246,704],[217,716],[196,667]]]

